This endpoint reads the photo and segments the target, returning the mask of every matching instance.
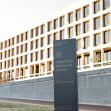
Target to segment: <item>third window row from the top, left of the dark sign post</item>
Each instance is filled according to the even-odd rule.
[[[52,57],[52,48],[47,49],[46,57],[47,58]],[[30,62],[43,60],[44,58],[45,58],[45,50],[40,50],[34,53],[30,53]],[[28,55],[16,57],[16,59],[10,59],[10,60],[4,61],[4,68],[14,67],[14,63],[15,63],[15,66],[19,66],[19,65],[27,64],[27,62],[28,62]],[[2,69],[2,65],[0,68]]]

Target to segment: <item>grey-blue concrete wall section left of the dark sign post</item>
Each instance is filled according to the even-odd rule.
[[[0,97],[53,101],[53,78],[43,78],[7,83],[0,86]]]

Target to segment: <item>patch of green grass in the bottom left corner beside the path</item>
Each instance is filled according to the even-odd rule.
[[[52,107],[0,101],[0,111],[53,111]]]

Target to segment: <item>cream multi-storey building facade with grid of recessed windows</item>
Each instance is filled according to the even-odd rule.
[[[77,41],[78,72],[111,67],[111,0],[79,0],[36,27],[0,41],[0,81],[53,76],[53,40],[70,38]]]

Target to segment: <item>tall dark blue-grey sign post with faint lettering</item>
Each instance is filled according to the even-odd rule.
[[[78,111],[76,40],[54,41],[54,111]]]

